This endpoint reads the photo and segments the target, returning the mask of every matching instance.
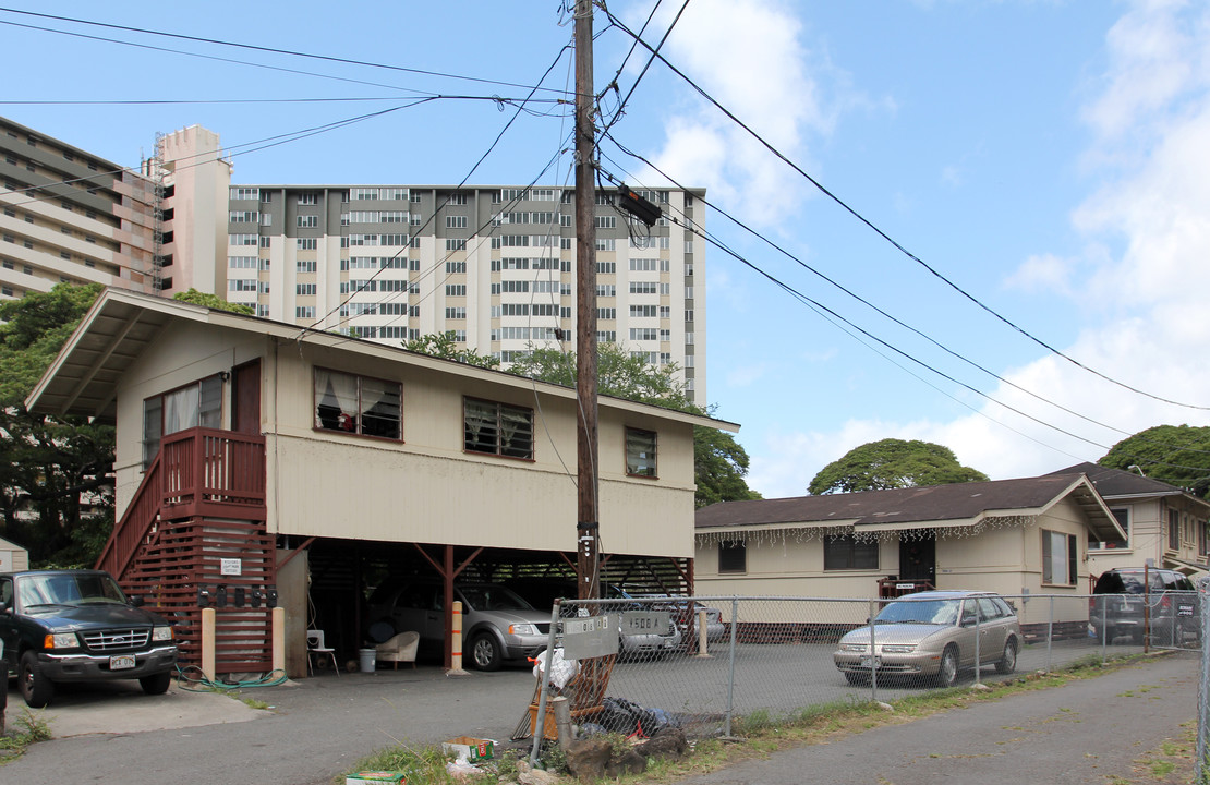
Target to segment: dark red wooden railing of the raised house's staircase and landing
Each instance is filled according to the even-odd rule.
[[[189,428],[165,437],[97,568],[121,581],[159,521],[195,515],[264,520],[263,435]]]

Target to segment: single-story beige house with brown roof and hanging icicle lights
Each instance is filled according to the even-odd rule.
[[[1122,536],[1091,481],[1066,474],[711,504],[695,566],[699,595],[1076,595],[1089,541]]]

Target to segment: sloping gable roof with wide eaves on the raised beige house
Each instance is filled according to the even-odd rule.
[[[280,340],[301,341],[344,352],[367,354],[405,365],[427,368],[456,376],[489,380],[497,385],[538,389],[560,398],[576,398],[574,387],[540,382],[501,370],[478,368],[457,360],[409,352],[402,347],[362,339],[305,330],[296,324],[219,311],[149,294],[110,288],[102,293],[80,321],[71,337],[25,399],[25,408],[50,415],[82,415],[106,422],[116,420],[117,387],[131,365],[173,322],[217,325]],[[737,432],[739,426],[725,420],[686,414],[650,404],[600,397],[600,405],[666,420]]]

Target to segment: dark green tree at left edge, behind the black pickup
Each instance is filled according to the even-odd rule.
[[[35,565],[90,565],[113,521],[114,428],[25,409],[102,287],[59,284],[0,304],[0,506]]]

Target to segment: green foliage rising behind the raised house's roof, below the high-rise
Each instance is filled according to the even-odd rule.
[[[471,350],[459,350],[448,335],[424,335],[403,345],[414,352],[434,354],[472,365],[495,368],[499,363],[490,356]],[[598,392],[603,396],[638,400],[640,403],[676,409],[697,415],[711,410],[696,405],[685,394],[685,386],[676,377],[675,363],[652,365],[643,357],[632,356],[618,344],[598,344],[597,376]],[[540,381],[574,387],[576,385],[576,353],[549,347],[530,347],[520,359],[513,362],[508,373]],[[760,493],[748,487],[748,452],[736,438],[718,428],[693,427],[693,468],[697,492],[693,502],[705,507],[715,502],[732,502],[760,498]]]

